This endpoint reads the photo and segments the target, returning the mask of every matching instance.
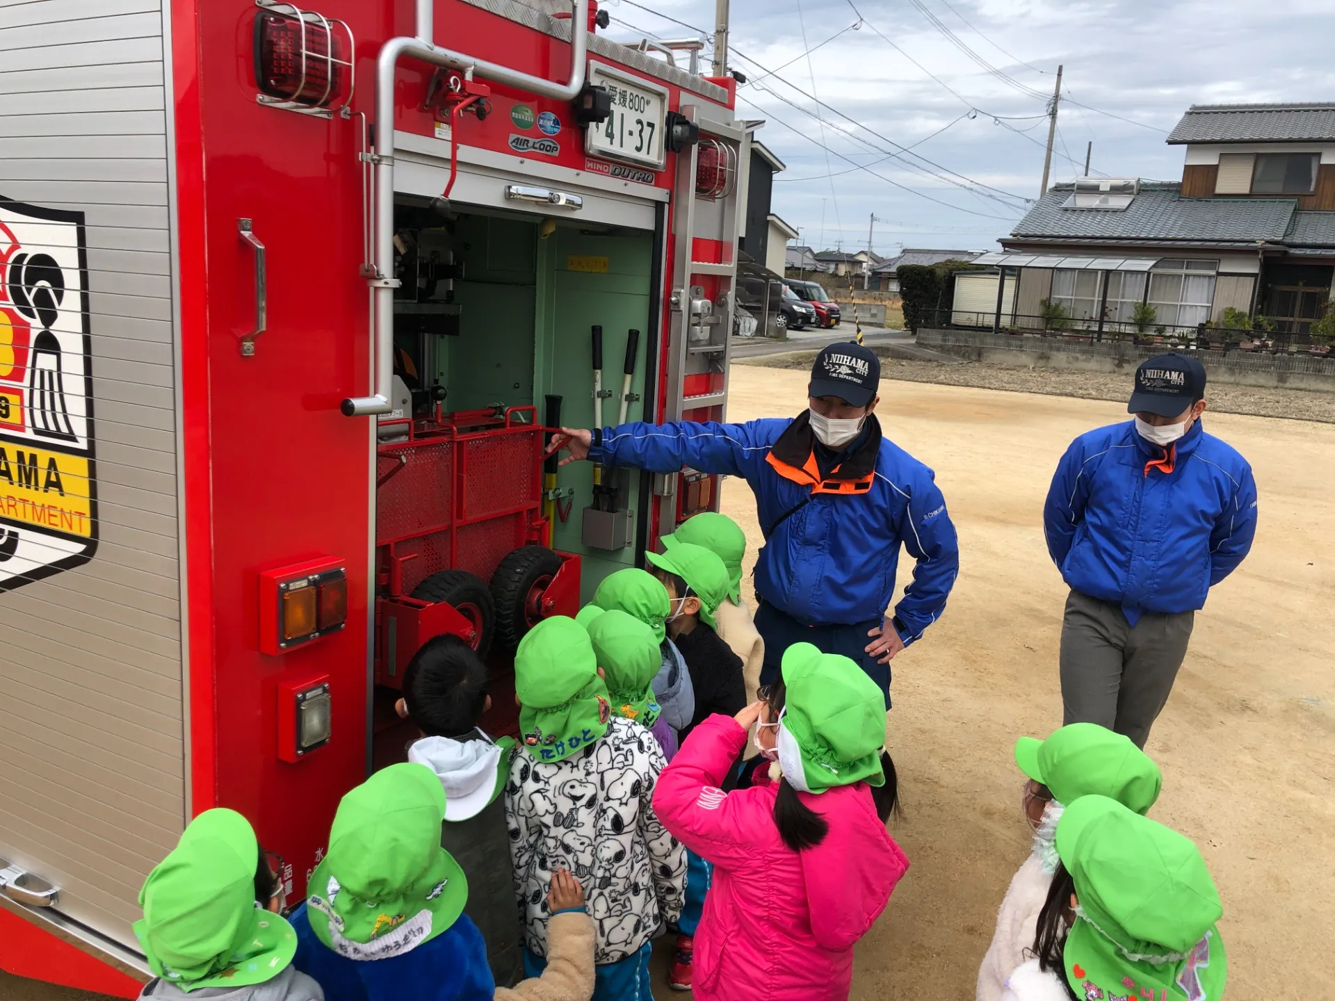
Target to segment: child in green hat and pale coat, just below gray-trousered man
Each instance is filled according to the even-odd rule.
[[[997,912],[992,944],[979,968],[976,1001],[999,1001],[1007,980],[1033,954],[1039,912],[1052,886],[1059,860],[1053,844],[1063,803],[1083,795],[1107,795],[1136,813],[1159,798],[1159,766],[1127,737],[1097,723],[1072,723],[1048,739],[1021,737],[1015,759],[1035,782],[1052,790],[1052,799],[1025,799],[1035,829],[1029,857],[1011,880]]]

